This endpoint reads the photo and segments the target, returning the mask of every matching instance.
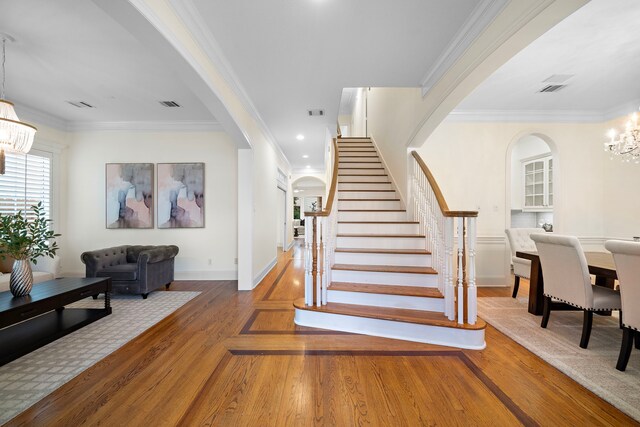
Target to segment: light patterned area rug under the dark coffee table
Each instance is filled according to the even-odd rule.
[[[200,292],[115,295],[113,313],[0,367],[0,424],[155,325]],[[101,308],[104,297],[68,307]]]

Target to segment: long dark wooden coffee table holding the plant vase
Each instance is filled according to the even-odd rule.
[[[65,308],[100,293],[104,308]],[[0,366],[109,314],[110,277],[49,280],[24,297],[0,292]]]

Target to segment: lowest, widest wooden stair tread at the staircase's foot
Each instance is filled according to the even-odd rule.
[[[487,324],[478,318],[475,325],[458,324],[455,320],[449,320],[444,314],[434,311],[406,310],[402,308],[371,307],[366,305],[327,303],[321,307],[307,306],[304,298],[297,299],[293,306],[299,310],[309,310],[328,314],[342,314],[345,316],[366,317],[369,319],[391,320],[396,322],[416,323],[419,325],[441,326],[455,329],[480,330]]]

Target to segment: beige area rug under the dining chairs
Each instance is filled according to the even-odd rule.
[[[618,319],[593,316],[589,348],[579,346],[582,312],[552,311],[547,329],[542,316],[527,312],[526,298],[478,298],[487,323],[540,356],[602,399],[640,421],[640,350],[633,349],[625,372],[616,370],[622,341]]]

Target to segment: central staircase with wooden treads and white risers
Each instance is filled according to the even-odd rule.
[[[403,206],[373,142],[338,138],[335,147],[337,206],[330,202],[329,219],[319,214],[306,227],[307,294],[294,303],[295,323],[484,348],[483,321],[455,320],[453,304],[445,316],[444,278],[427,250],[425,227]]]

